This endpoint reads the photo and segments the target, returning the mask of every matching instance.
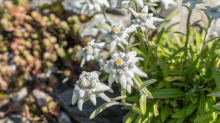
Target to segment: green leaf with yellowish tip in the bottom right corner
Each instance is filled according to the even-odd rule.
[[[207,113],[201,116],[198,116],[194,119],[195,123],[209,123],[210,121],[213,121],[217,118],[217,114],[215,112],[213,113]]]

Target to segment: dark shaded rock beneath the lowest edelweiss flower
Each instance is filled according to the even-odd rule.
[[[117,87],[116,87],[117,88]],[[115,89],[116,90],[116,89]],[[122,117],[126,114],[126,110],[121,110],[121,106],[112,106],[105,109],[102,113],[93,119],[89,119],[91,113],[96,110],[100,105],[105,103],[101,98],[97,98],[97,105],[94,106],[89,100],[83,104],[83,111],[79,111],[77,103],[71,104],[73,89],[67,90],[58,96],[59,103],[66,112],[69,113],[70,117],[78,121],[79,123],[121,123]],[[119,92],[106,93],[109,97],[117,97],[120,95]]]

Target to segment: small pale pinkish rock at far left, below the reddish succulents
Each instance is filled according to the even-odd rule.
[[[27,97],[27,95],[28,95],[27,87],[23,87],[18,92],[16,92],[16,94],[12,98],[12,101],[21,102]]]

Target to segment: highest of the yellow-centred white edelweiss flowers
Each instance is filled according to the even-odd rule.
[[[128,33],[135,31],[135,27],[125,28],[122,26],[122,21],[117,24],[113,24],[111,29],[108,30],[108,33],[105,34],[102,38],[107,38],[110,41],[110,53],[113,52],[116,45],[124,49],[123,44],[128,45],[126,38],[129,37]]]

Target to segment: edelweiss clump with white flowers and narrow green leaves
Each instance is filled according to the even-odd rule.
[[[184,5],[187,2],[191,3],[190,7]],[[105,14],[107,3],[89,0],[82,3],[82,12],[96,9]],[[129,110],[123,117],[125,123],[220,122],[220,39],[208,36],[211,23],[220,17],[220,6],[203,9],[209,24],[198,32],[193,27],[201,20],[190,23],[190,19],[196,4],[203,1],[183,0],[182,6],[187,8],[188,18],[187,24],[183,25],[186,32],[181,33],[172,26],[167,29],[159,27],[171,16],[165,19],[154,17],[149,7],[156,4],[142,0],[118,0],[118,6],[124,3],[130,5],[128,10],[133,15],[132,25],[124,27],[121,22],[111,24],[105,18],[111,26],[103,36],[106,43],[92,40],[77,54],[83,56],[81,66],[91,60],[100,62],[100,72],[109,75],[109,86],[100,84],[99,72],[83,72],[76,81],[72,103],[78,100],[79,110],[83,110],[85,101],[91,100],[96,105],[96,97],[101,97],[107,102],[90,118],[107,107],[122,105],[122,109]],[[149,38],[149,32],[155,29],[158,30],[157,35]],[[136,42],[128,46],[128,37],[132,35],[135,35]],[[103,61],[99,53],[106,46],[110,47],[110,52],[116,46],[123,51]],[[104,94],[104,91],[111,91],[113,82],[121,88],[120,97],[109,98]]]

